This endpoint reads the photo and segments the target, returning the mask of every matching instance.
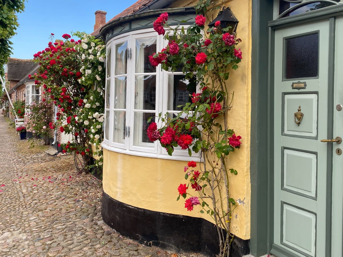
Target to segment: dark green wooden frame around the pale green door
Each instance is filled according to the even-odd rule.
[[[273,42],[276,28],[330,18],[334,36],[334,17],[343,15],[343,4],[273,21],[273,0],[252,0],[251,53],[251,226],[250,251],[253,256],[270,253],[273,243]],[[270,21],[270,22],[269,22]],[[329,98],[333,99],[334,40],[329,47]],[[266,67],[268,69],[266,70]],[[330,75],[329,75],[330,76]],[[332,137],[333,107],[328,108],[328,136]],[[332,122],[329,122],[332,121]],[[329,138],[328,137],[328,138]],[[330,138],[331,138],[330,137]],[[328,145],[328,147],[330,147]],[[332,158],[332,151],[328,151]],[[331,155],[331,156],[329,156]],[[328,164],[332,170],[332,163]],[[331,255],[332,173],[327,173],[327,256]],[[266,200],[267,199],[267,200]],[[285,253],[287,254],[287,253]]]

